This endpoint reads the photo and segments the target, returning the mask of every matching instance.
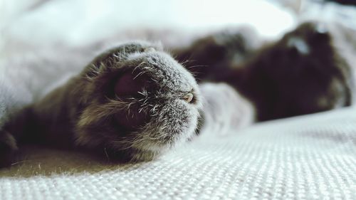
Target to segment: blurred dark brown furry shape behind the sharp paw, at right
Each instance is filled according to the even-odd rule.
[[[177,58],[182,62],[187,58],[194,60],[192,64],[186,63],[187,68],[202,80],[234,86],[256,106],[260,121],[351,104],[350,65],[333,46],[335,35],[322,23],[302,23],[258,51],[248,51],[244,42],[234,41],[239,34],[225,35],[226,43],[217,43],[212,36],[203,38],[181,51]],[[235,56],[226,53],[229,51],[244,59],[231,62]],[[222,56],[214,59],[209,55]]]

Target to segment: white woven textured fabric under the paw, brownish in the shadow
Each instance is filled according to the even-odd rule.
[[[356,110],[204,132],[154,162],[31,149],[0,199],[356,199]]]

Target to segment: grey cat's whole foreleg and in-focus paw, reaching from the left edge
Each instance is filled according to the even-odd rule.
[[[126,43],[7,123],[0,164],[11,164],[18,146],[31,142],[150,160],[194,135],[200,108],[193,76],[162,47]]]

